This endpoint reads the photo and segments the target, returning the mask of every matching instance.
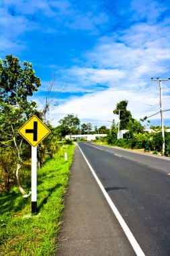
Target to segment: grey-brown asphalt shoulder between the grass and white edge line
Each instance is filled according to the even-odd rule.
[[[136,255],[78,146],[65,205],[57,256]]]

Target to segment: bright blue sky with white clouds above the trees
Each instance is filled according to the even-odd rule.
[[[120,100],[136,119],[159,112],[151,77],[170,77],[169,0],[1,0],[0,12],[0,57],[33,64],[42,86],[32,100],[40,108],[55,77],[52,125],[73,113],[109,127]],[[170,82],[162,85],[168,110]],[[168,125],[170,111],[164,118]],[[150,120],[160,125],[160,115]]]

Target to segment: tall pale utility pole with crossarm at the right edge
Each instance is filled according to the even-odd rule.
[[[161,129],[162,129],[162,136],[163,136],[163,154],[165,154],[165,132],[164,132],[164,124],[163,124],[163,92],[162,92],[162,81],[170,81],[169,79],[153,79],[151,78],[151,81],[157,81],[159,82],[159,91],[160,91],[160,113],[161,113]]]

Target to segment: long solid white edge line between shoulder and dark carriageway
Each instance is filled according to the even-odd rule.
[[[79,145],[78,145],[79,147]],[[122,218],[122,216],[120,215],[120,213],[118,212],[118,209],[116,208],[116,206],[114,205],[114,203],[112,202],[110,196],[108,195],[108,193],[105,191],[103,185],[101,184],[101,182],[99,181],[97,175],[95,174],[95,171],[93,170],[93,168],[91,167],[91,165],[89,164],[89,161],[87,160],[87,158],[85,157],[85,155],[83,154],[81,148],[79,147],[79,150],[81,151],[81,154],[83,155],[83,157],[85,158],[85,161],[87,162],[91,172],[93,173],[93,176],[95,177],[95,180],[97,181],[101,191],[103,192],[103,195],[105,196],[105,199],[108,201],[110,207],[112,208],[112,211],[114,212],[116,218],[118,219],[118,222],[120,223],[120,226],[122,226],[122,229],[124,230],[128,241],[130,242],[130,244],[132,245],[135,253],[137,256],[145,256],[142,249],[140,248],[140,246],[138,245],[138,242],[136,241],[136,239],[134,238],[132,232],[130,231],[130,229],[128,228],[126,222],[124,221],[124,219]]]

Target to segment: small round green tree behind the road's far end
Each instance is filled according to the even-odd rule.
[[[74,116],[73,114],[69,114],[63,119],[60,119],[58,123],[60,123],[60,125],[69,127],[70,134],[76,134],[80,125],[80,120],[77,115]]]

